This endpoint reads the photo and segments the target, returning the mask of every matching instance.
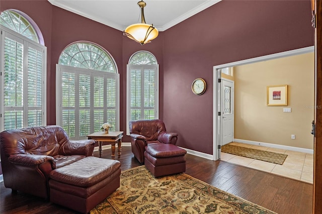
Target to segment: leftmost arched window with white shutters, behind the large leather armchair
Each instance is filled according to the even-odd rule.
[[[0,129],[46,125],[46,47],[39,44],[36,24],[19,11],[0,15]]]

